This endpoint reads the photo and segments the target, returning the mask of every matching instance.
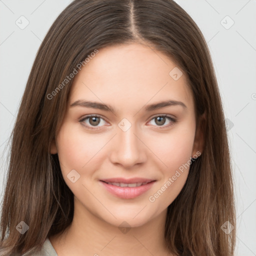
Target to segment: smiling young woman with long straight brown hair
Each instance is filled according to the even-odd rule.
[[[60,13],[13,129],[1,227],[0,255],[233,255],[214,69],[174,1]]]

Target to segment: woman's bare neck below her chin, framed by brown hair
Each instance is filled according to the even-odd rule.
[[[58,256],[64,255],[163,255],[167,209],[137,227],[118,227],[93,215],[74,197],[72,223],[60,235],[49,237]],[[121,225],[122,226],[122,225]]]

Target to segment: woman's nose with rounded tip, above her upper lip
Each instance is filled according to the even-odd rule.
[[[109,159],[113,164],[131,168],[135,164],[146,161],[146,146],[143,138],[136,132],[135,125],[123,131],[117,127],[117,134],[112,141]]]

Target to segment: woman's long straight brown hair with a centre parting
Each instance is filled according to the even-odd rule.
[[[177,255],[233,255],[233,177],[212,60],[201,31],[172,0],[74,0],[51,25],[36,54],[11,134],[0,255],[34,252],[47,236],[71,223],[73,194],[63,180],[57,154],[50,154],[72,78],[62,82],[95,49],[131,42],[153,45],[175,61],[188,77],[196,120],[206,113],[204,150],[191,163],[185,185],[167,209],[166,245]],[[29,226],[23,234],[16,229],[20,221]],[[226,221],[234,227],[229,233],[221,228]]]

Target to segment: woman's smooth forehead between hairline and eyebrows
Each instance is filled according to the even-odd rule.
[[[135,103],[173,99],[193,107],[186,75],[181,72],[152,46],[131,43],[100,48],[75,75],[69,102],[91,99],[131,108]]]

